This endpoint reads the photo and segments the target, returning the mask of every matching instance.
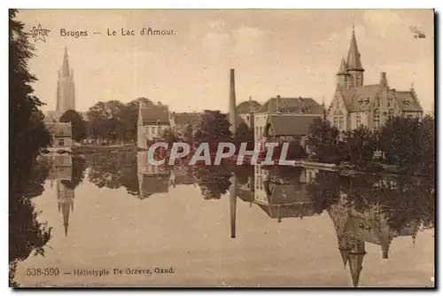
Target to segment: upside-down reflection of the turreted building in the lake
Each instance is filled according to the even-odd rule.
[[[411,236],[414,243],[419,223],[414,222],[403,225],[400,230],[393,230],[379,206],[372,205],[364,211],[357,211],[353,206],[346,204],[346,198],[346,194],[342,193],[338,203],[330,206],[329,214],[337,232],[338,250],[345,267],[346,264],[349,265],[353,284],[356,287],[359,284],[366,253],[365,243],[379,245],[382,258],[387,259],[392,239]]]

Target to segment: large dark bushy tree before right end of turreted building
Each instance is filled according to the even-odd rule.
[[[420,160],[420,122],[404,117],[394,117],[381,130],[379,146],[389,164],[399,166],[400,172],[416,174]]]

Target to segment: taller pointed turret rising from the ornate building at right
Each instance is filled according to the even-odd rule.
[[[351,38],[351,45],[347,53],[346,69],[349,77],[347,79],[347,87],[349,89],[358,88],[363,85],[363,66],[361,66],[360,51],[357,47],[357,40],[355,39],[355,30],[353,25],[353,36]]]

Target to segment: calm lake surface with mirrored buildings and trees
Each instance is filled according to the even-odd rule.
[[[15,280],[22,286],[433,285],[432,180],[258,166],[161,168],[147,166],[145,157],[43,161],[43,192],[33,201],[51,239],[44,256],[19,262]],[[59,274],[27,275],[38,268]],[[76,269],[110,274],[79,276]]]

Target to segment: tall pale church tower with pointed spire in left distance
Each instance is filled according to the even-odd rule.
[[[74,72],[69,68],[67,49],[65,47],[63,64],[58,71],[57,111],[65,113],[71,109],[75,110]]]

